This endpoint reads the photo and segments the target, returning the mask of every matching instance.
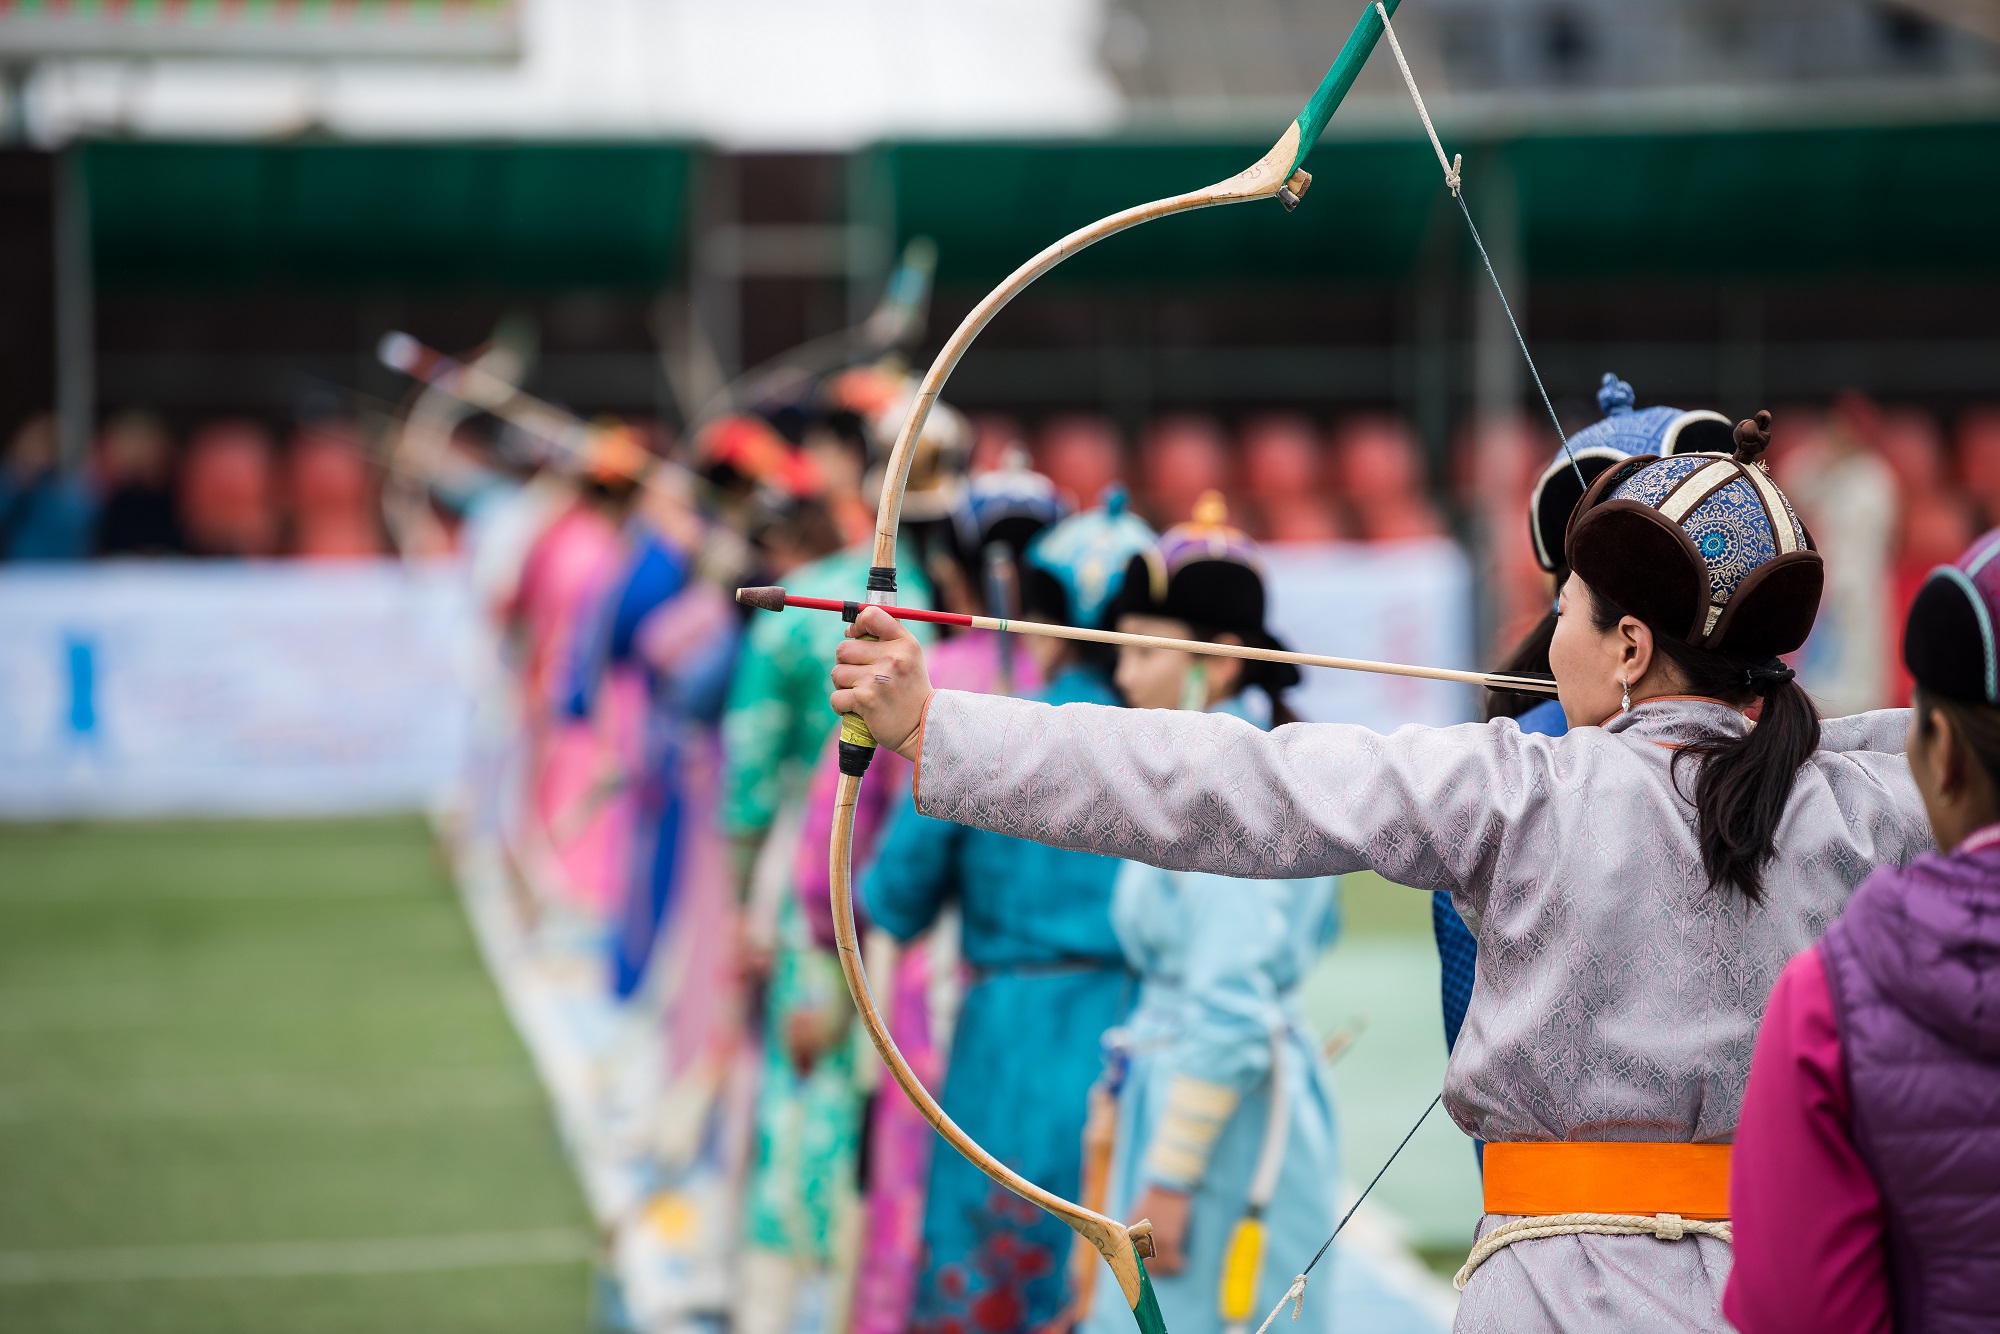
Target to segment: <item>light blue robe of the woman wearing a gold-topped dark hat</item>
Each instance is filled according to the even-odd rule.
[[[1234,702],[1222,710],[1246,712]],[[1264,1146],[1274,1028],[1284,1034],[1278,1058],[1290,1130],[1284,1168],[1264,1208],[1268,1250],[1254,1310],[1278,1302],[1338,1220],[1332,1084],[1318,1038],[1298,1008],[1300,984],[1338,936],[1334,880],[1232,880],[1126,862],[1112,922],[1142,984],[1132,1018],[1108,1038],[1124,1078],[1104,1212],[1130,1218],[1146,1186],[1192,1192],[1186,1268],[1152,1280],[1152,1290],[1174,1334],[1220,1334],[1222,1254]],[[1168,1180],[1148,1170],[1176,1076],[1238,1096],[1200,1180]],[[1130,1318],[1116,1284],[1100,1284],[1088,1334],[1122,1334]],[[1330,1304],[1308,1302],[1300,1322],[1286,1322],[1286,1330],[1326,1334],[1330,1318]]]

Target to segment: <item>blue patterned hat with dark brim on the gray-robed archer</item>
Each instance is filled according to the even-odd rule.
[[[1616,606],[1696,648],[1772,658],[1806,642],[1826,582],[1812,534],[1758,458],[1770,412],[1734,454],[1638,456],[1590,484],[1568,562]]]

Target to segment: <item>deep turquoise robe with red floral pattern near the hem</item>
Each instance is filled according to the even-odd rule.
[[[1082,668],[1040,698],[1116,702],[1104,678]],[[868,916],[904,940],[958,902],[972,986],[938,1100],[994,1158],[1070,1200],[1080,1190],[1098,1036],[1124,1020],[1136,992],[1110,922],[1118,866],[932,820],[904,798],[862,876]],[[940,1146],[912,1326],[980,1334],[1048,1324],[1068,1302],[1070,1238],[1062,1220]]]

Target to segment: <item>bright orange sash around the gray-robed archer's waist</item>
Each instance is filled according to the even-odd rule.
[[[1488,1144],[1486,1212],[1728,1218],[1730,1146]]]

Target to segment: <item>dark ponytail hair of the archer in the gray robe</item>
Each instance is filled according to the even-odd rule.
[[[1600,634],[1624,616],[1610,598],[1590,592],[1590,624]],[[1690,800],[1708,888],[1736,886],[1752,904],[1764,902],[1764,866],[1778,854],[1778,824],[1792,800],[1792,784],[1820,748],[1820,710],[1778,662],[1694,648],[1658,626],[1648,628],[1654,648],[1680,670],[1688,694],[1738,706],[1764,700],[1746,736],[1692,742],[1674,752],[1676,792],[1680,764],[1700,764]]]

